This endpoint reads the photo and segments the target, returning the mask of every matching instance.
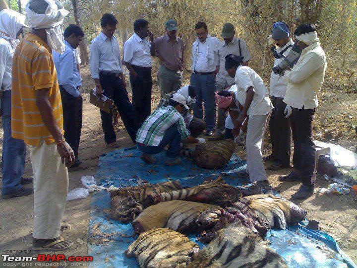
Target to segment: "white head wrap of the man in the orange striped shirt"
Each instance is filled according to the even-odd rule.
[[[38,14],[29,8],[34,1],[38,0],[29,0],[25,6],[30,28],[45,29],[48,45],[53,50],[63,53],[65,45],[61,24],[69,11],[64,9],[59,0],[43,0],[48,3],[47,9],[44,14]]]

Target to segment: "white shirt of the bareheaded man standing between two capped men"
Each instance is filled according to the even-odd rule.
[[[211,72],[216,70],[219,65],[218,44],[219,39],[207,36],[206,40],[201,43],[197,38],[192,45],[192,72]]]

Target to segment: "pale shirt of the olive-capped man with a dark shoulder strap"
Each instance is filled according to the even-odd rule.
[[[239,55],[239,44],[240,44],[240,52]],[[250,52],[249,49],[243,39],[238,39],[234,37],[232,41],[227,45],[225,41],[221,41],[218,45],[218,57],[220,59],[220,70],[216,75],[216,82],[220,85],[225,85],[226,82],[228,85],[234,83],[234,77],[231,77],[225,68],[226,56],[229,54],[242,56],[243,62],[247,62],[250,60]]]

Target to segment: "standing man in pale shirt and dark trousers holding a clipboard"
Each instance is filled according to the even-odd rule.
[[[114,36],[118,20],[113,14],[104,14],[101,33],[90,46],[90,71],[96,83],[96,94],[112,99],[131,140],[135,142],[138,124],[134,109],[126,91],[125,75],[120,59],[118,39]],[[104,139],[110,148],[117,148],[117,136],[113,128],[112,112],[100,111]]]

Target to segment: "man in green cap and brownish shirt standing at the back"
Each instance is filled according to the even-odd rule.
[[[177,34],[178,25],[174,19],[165,23],[166,34],[155,38],[155,56],[160,59],[157,72],[161,97],[181,87],[183,70],[183,41]]]

